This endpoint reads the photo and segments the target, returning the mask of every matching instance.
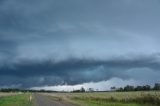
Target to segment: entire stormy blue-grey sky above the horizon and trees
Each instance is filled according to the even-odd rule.
[[[159,11],[159,0],[0,0],[0,88],[153,85]]]

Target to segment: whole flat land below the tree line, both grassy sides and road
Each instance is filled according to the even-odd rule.
[[[0,93],[0,106],[160,106],[159,91]],[[29,101],[32,95],[32,101]],[[37,105],[38,104],[38,105]]]

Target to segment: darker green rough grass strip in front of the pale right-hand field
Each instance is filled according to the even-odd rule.
[[[147,99],[146,99],[147,98]],[[149,97],[137,98],[137,99],[128,99],[128,100],[116,100],[111,97],[109,99],[103,98],[81,98],[74,97],[71,98],[74,104],[79,106],[156,106],[159,101],[151,101]],[[157,105],[158,106],[158,105]]]

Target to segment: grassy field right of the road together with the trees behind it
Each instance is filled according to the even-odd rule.
[[[82,87],[71,93],[46,93],[54,100],[67,101],[77,106],[160,106],[160,83],[124,88],[111,87],[110,92],[87,91]]]

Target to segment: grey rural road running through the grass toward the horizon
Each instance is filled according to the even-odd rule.
[[[64,104],[59,101],[54,101],[49,97],[41,94],[34,94],[36,106],[73,106],[69,104]]]

